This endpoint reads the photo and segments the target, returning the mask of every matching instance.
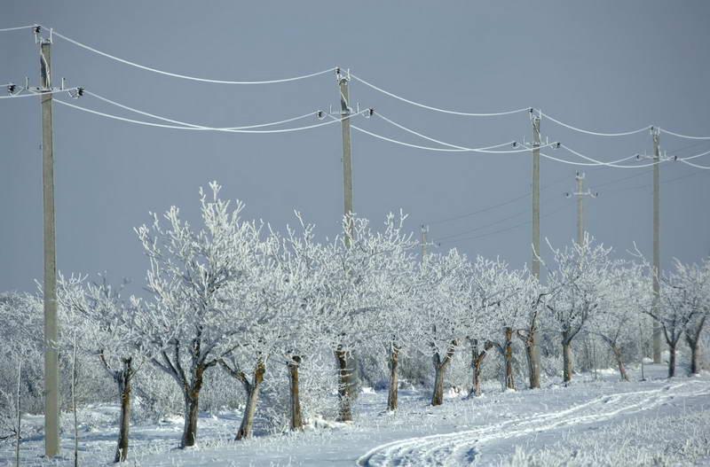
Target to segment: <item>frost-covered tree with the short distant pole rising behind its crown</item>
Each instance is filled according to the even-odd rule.
[[[572,340],[600,311],[610,291],[609,272],[618,264],[611,259],[611,248],[595,245],[585,234],[581,244],[572,242],[554,248],[548,267],[549,293],[546,300],[548,323],[562,341],[563,379],[572,380]]]

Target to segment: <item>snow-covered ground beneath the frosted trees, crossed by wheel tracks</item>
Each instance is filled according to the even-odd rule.
[[[620,383],[608,370],[596,381],[583,375],[569,387],[506,393],[489,383],[481,398],[451,394],[438,408],[429,393],[402,391],[397,414],[383,413],[386,393],[365,391],[353,424],[318,421],[307,432],[239,442],[240,414],[204,414],[198,446],[187,450],[176,448],[182,419],[174,417],[131,427],[129,465],[710,465],[710,375],[668,380],[664,371],[650,366],[652,379]],[[85,407],[79,416],[80,463],[109,464],[117,408]],[[23,440],[21,464],[70,465],[69,418],[65,458],[43,460],[37,435]],[[0,465],[13,456],[12,443],[0,444]]]

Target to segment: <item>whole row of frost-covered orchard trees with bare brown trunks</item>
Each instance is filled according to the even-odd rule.
[[[641,315],[663,326],[671,348],[685,336],[698,370],[699,334],[708,314],[710,263],[677,264],[663,276],[661,306],[652,307],[643,261],[614,259],[589,237],[582,245],[550,245],[547,284],[527,269],[451,250],[420,259],[404,227],[390,214],[382,229],[352,216],[343,233],[317,242],[301,220],[284,234],[241,218],[243,205],[219,198],[217,183],[201,191],[195,229],[177,207],[136,230],[150,263],[146,298],[124,297],[120,287],[83,276],[62,278],[59,300],[67,328],[83,336],[79,349],[95,355],[121,399],[115,461],[129,448],[131,381],[144,365],[169,375],[185,402],[180,446],[197,438],[200,394],[208,372],[234,377],[247,395],[236,438],[251,436],[266,368],[288,373],[290,427],[304,426],[299,400],[302,362],[324,349],[337,362],[339,418],[351,420],[353,354],[385,348],[390,369],[388,409],[397,409],[398,364],[406,355],[431,359],[431,404],[443,402],[446,370],[454,354],[469,349],[471,394],[480,393],[480,371],[492,349],[515,387],[513,341],[523,342],[533,367],[533,336],[555,333],[563,348],[564,381],[572,378],[572,342],[581,333],[604,340],[627,379],[622,346],[635,339]],[[539,385],[531,368],[530,385]]]

